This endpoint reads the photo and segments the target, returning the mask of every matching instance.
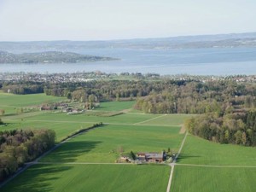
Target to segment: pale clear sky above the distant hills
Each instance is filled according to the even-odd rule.
[[[256,0],[0,0],[0,41],[256,32]]]

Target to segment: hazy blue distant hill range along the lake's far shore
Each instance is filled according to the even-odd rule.
[[[6,51],[128,48],[128,49],[200,49],[226,47],[256,47],[256,32],[218,35],[183,36],[172,38],[141,38],[112,41],[37,41],[0,42],[0,49]]]

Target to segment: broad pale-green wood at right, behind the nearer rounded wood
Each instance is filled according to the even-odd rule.
[[[256,85],[231,81],[170,84],[137,98],[134,108],[144,113],[232,113],[256,106]]]

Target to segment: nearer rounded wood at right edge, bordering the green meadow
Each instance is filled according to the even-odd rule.
[[[188,119],[185,125],[193,135],[213,142],[256,146],[256,111],[206,113]]]

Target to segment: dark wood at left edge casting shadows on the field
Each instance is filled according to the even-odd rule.
[[[55,131],[0,131],[0,182],[55,144]]]

